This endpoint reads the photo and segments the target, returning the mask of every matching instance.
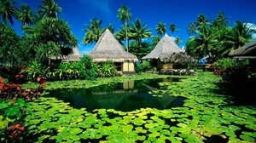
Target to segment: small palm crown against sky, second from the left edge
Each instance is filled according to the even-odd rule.
[[[30,6],[22,3],[20,5],[20,10],[18,12],[18,19],[22,22],[23,25],[30,25],[33,23],[33,13]]]

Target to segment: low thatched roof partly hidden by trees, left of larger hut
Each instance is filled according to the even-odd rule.
[[[74,47],[72,49],[72,54],[68,54],[68,55],[62,55],[62,56],[58,56],[58,57],[51,57],[51,60],[62,60],[62,61],[76,61],[76,60],[80,60],[80,58],[82,57],[82,54],[80,53],[79,49],[77,47]]]

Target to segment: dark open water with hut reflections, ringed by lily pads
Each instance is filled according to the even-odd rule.
[[[177,82],[178,78],[157,78],[124,83],[110,83],[90,89],[57,89],[48,96],[69,102],[75,108],[86,108],[88,112],[94,109],[114,109],[130,112],[140,108],[166,109],[172,106],[183,106],[183,97],[175,97],[164,92],[154,96],[150,91],[165,89],[161,82]]]

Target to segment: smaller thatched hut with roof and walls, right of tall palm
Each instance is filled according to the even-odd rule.
[[[160,39],[160,42],[156,44],[155,48],[146,56],[143,60],[153,60],[153,64],[158,69],[173,68],[172,64],[168,61],[174,53],[180,53],[182,50],[178,48],[177,44],[173,42],[172,37],[167,34]]]

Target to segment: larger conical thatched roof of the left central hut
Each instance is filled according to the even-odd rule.
[[[137,61],[137,56],[126,52],[108,28],[102,33],[94,49],[88,55],[96,62],[107,60],[113,62]]]

